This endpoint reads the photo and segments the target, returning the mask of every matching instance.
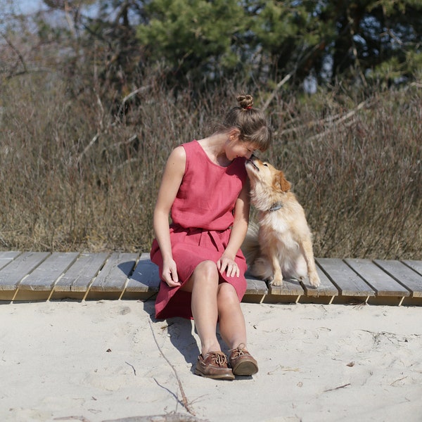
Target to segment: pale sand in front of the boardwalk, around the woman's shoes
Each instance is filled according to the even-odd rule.
[[[242,308],[260,371],[230,382],[151,300],[0,305],[0,420],[422,421],[422,307]]]

